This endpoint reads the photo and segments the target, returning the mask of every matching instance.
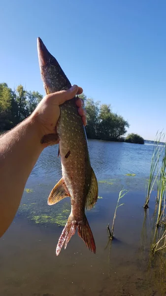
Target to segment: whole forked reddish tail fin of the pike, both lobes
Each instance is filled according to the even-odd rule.
[[[56,249],[57,256],[60,254],[64,244],[66,249],[66,246],[70,241],[71,236],[74,235],[75,233],[76,227],[78,227],[78,235],[83,239],[87,248],[90,251],[92,251],[94,254],[96,253],[95,240],[86,216],[84,216],[83,221],[77,222],[76,220],[74,220],[73,215],[70,214],[70,216],[68,217],[68,221],[65,225],[65,228],[62,231],[62,234],[58,241],[58,245]]]

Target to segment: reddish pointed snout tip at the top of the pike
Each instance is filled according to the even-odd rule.
[[[40,67],[45,66],[51,59],[52,55],[44,45],[40,37],[37,38],[37,52]]]

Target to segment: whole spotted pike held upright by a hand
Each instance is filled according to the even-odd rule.
[[[46,94],[71,87],[66,74],[57,60],[49,53],[42,40],[37,38],[38,59],[41,77]],[[62,179],[54,186],[48,205],[53,205],[65,197],[70,197],[71,213],[58,241],[56,255],[61,252],[78,229],[78,235],[86,246],[96,253],[94,237],[85,216],[85,208],[93,208],[98,199],[98,182],[91,167],[88,143],[81,116],[73,98],[60,105],[60,117],[57,122],[59,154],[62,163]],[[45,135],[41,143],[56,144],[56,134]]]

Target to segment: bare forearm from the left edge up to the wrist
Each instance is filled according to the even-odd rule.
[[[0,236],[12,222],[43,147],[33,116],[0,138]]]

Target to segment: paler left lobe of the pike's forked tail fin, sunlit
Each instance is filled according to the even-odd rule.
[[[66,246],[67,246],[71,236],[74,235],[74,233],[75,233],[76,226],[77,226],[76,221],[74,221],[73,216],[70,215],[68,217],[68,221],[67,221],[65,228],[62,231],[62,234],[61,234],[59,241],[58,241],[58,245],[57,245],[57,249],[56,249],[57,256],[60,254],[64,244],[65,244],[65,249],[66,249]]]

